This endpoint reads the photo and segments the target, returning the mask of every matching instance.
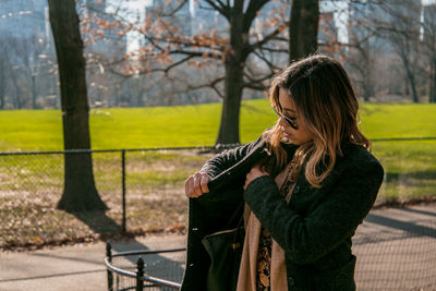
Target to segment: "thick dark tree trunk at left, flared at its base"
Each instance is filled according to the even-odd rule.
[[[48,4],[59,65],[64,149],[89,149],[86,64],[75,1],[49,0]],[[95,186],[89,153],[64,155],[64,189],[58,208],[107,209]]]

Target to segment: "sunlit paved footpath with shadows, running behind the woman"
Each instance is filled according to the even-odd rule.
[[[180,247],[185,239],[155,234],[117,242],[113,250]],[[353,251],[358,290],[436,290],[436,204],[372,210],[358,229]],[[107,290],[105,253],[102,242],[2,252],[0,290]],[[386,276],[398,278],[387,282]]]

